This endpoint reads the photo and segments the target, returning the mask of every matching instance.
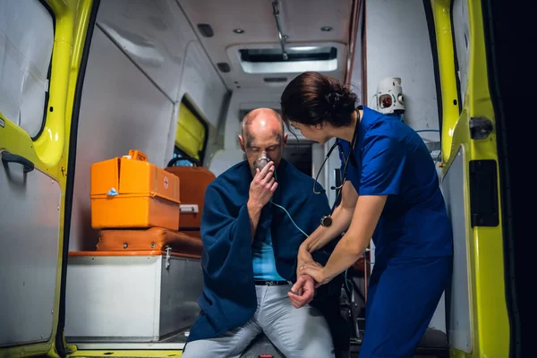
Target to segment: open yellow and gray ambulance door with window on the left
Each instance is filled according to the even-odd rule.
[[[0,357],[64,355],[70,132],[95,3],[0,2]]]

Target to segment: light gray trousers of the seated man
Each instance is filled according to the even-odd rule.
[[[256,286],[257,310],[251,320],[223,336],[189,342],[183,358],[239,358],[261,332],[287,358],[333,358],[328,323],[317,309],[294,308],[287,292],[291,286]]]

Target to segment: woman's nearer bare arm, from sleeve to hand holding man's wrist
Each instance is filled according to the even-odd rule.
[[[351,226],[337,243],[326,266],[322,268],[315,262],[305,263],[298,268],[299,273],[309,275],[319,284],[324,285],[346,268],[351,267],[356,260],[360,259],[369,245],[386,199],[387,195],[368,195],[358,198]]]

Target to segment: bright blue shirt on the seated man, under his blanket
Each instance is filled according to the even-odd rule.
[[[267,231],[265,240],[256,239],[251,245],[251,263],[253,265],[253,278],[268,281],[286,281],[277,273],[274,250],[270,230]]]

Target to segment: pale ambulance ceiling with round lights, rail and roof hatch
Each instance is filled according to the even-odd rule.
[[[298,64],[296,60],[283,60],[272,0],[221,2],[177,0],[177,2],[191,22],[192,28],[197,31],[201,45],[217,68],[228,90],[268,88],[268,86],[281,90],[297,74],[308,70],[324,72],[340,81],[345,80],[352,0],[277,1],[281,32],[287,36],[286,48],[302,47],[299,50],[309,50],[312,53],[316,52],[313,47],[318,49],[324,47],[332,51],[335,48],[337,61],[331,58],[330,65],[327,65],[326,60],[314,64],[311,58],[308,58],[308,61],[299,61]],[[213,36],[203,36],[203,31],[198,27],[199,24],[208,24],[209,32],[212,32]],[[236,29],[243,30],[243,33],[234,32]],[[266,63],[258,57],[257,63],[253,64],[257,66],[255,67],[257,72],[253,70],[245,72],[240,61],[239,49],[252,48],[277,50],[277,60],[272,61],[276,58],[273,55],[270,57],[273,63]],[[297,54],[297,51],[294,54]],[[319,51],[315,55],[319,55]],[[229,72],[222,71],[218,64],[220,66],[227,64]],[[290,65],[292,68],[289,68]],[[337,68],[334,69],[335,66]]]

